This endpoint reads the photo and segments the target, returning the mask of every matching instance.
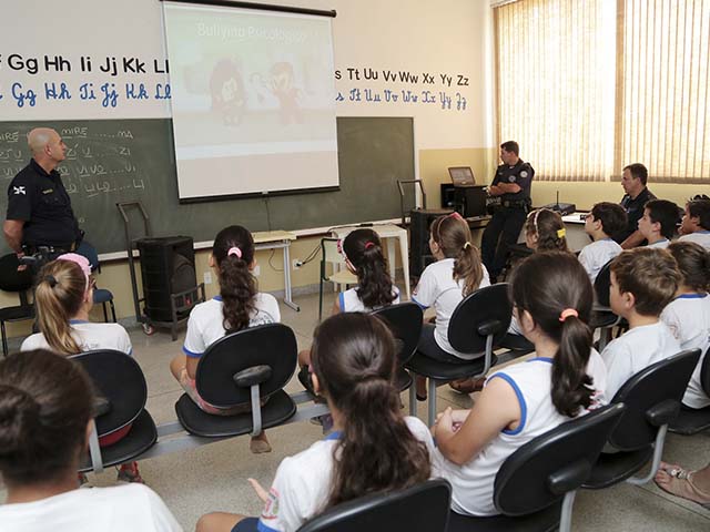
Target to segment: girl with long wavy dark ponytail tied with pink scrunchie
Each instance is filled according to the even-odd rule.
[[[216,416],[234,416],[250,411],[251,407],[217,408],[206,402],[195,388],[195,376],[200,358],[211,344],[227,332],[247,327],[274,324],[281,320],[276,298],[257,291],[252,270],[254,238],[245,227],[232,225],[217,233],[210,255],[210,267],[220,282],[220,295],[196,305],[190,313],[183,355],[170,362],[173,377],[187,396],[205,412]],[[262,432],[250,442],[252,452],[270,452],[266,433]]]

